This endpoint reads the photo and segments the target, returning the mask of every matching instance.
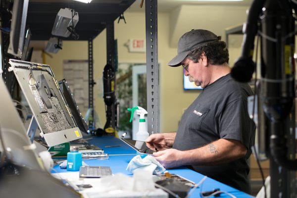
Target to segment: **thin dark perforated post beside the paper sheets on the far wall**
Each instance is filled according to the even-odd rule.
[[[92,119],[89,120],[89,128],[94,129],[94,79],[93,79],[93,39],[88,41],[88,63],[89,63],[89,109],[92,109]]]

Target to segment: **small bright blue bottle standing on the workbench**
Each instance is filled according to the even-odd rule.
[[[82,153],[78,151],[78,147],[70,147],[70,152],[67,153],[67,170],[78,171],[82,165]]]

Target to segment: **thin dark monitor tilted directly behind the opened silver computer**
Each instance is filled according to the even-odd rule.
[[[65,79],[59,81],[59,87],[62,91],[62,94],[64,96],[64,99],[66,100],[66,103],[68,104],[70,111],[72,113],[72,116],[74,118],[74,121],[76,122],[78,128],[86,133],[90,134],[90,130],[88,128],[88,125],[86,123],[86,120],[82,116],[82,113],[80,112],[78,105],[74,99],[73,94],[71,93],[71,90],[69,88],[69,85]]]

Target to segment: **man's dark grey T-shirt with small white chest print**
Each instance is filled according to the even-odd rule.
[[[255,138],[255,125],[247,113],[251,95],[248,84],[234,81],[230,74],[208,85],[183,114],[173,144],[178,150],[190,150],[221,138],[241,141],[247,147],[245,157],[189,168],[246,193],[250,193],[247,158]]]

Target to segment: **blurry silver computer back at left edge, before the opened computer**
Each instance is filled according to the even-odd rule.
[[[14,164],[42,170],[8,90],[0,78],[0,149]]]

